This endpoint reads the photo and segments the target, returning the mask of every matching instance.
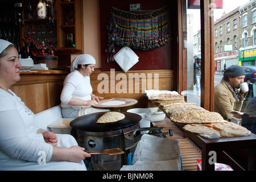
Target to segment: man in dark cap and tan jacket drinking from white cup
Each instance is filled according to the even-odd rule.
[[[240,90],[240,84],[245,79],[245,71],[238,65],[227,68],[220,83],[214,87],[214,111],[230,121],[230,110],[240,111],[246,93]]]

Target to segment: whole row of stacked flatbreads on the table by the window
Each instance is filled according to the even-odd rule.
[[[150,100],[162,107],[170,115],[172,122],[187,124],[183,129],[192,133],[204,135],[215,133],[220,138],[241,137],[249,133],[245,127],[232,122],[224,122],[219,113],[210,112],[194,103],[185,102],[184,96],[179,94],[155,94]]]

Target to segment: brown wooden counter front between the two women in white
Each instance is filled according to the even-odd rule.
[[[59,70],[20,69],[20,80],[10,89],[36,114],[60,104],[67,74]]]

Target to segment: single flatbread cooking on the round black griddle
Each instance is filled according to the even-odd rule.
[[[115,111],[110,111],[105,114],[103,114],[100,118],[98,118],[97,123],[113,123],[120,121],[125,118],[125,114],[115,112]]]

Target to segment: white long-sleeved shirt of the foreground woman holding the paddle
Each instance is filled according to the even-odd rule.
[[[20,159],[38,162],[39,151],[46,152],[46,160],[52,157],[51,144],[44,142],[33,125],[34,113],[11,90],[0,89],[0,169],[5,163],[20,163]]]

